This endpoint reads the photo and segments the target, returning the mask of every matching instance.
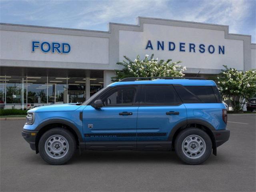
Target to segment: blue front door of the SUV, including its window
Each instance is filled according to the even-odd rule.
[[[117,86],[100,96],[104,106],[86,106],[83,132],[88,149],[135,149],[138,86]]]

